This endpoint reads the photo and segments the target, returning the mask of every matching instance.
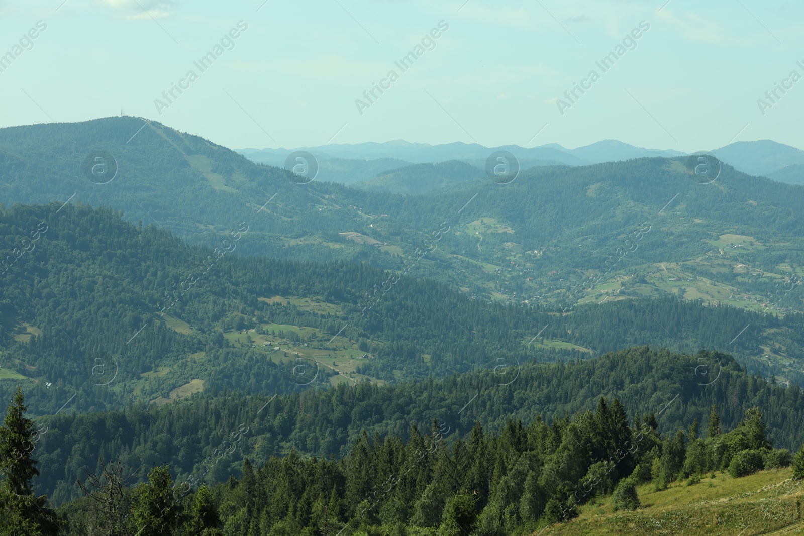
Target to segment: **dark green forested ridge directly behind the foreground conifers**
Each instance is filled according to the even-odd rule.
[[[552,423],[593,409],[601,396],[619,399],[630,417],[656,412],[661,433],[706,422],[712,404],[724,428],[735,428],[744,407],[756,406],[774,446],[793,450],[804,443],[801,390],[747,374],[728,354],[642,346],[586,361],[504,365],[384,387],[341,384],[277,396],[211,391],[158,408],[129,401],[117,411],[40,417],[37,426],[47,432],[35,451],[39,492],[57,505],[76,498],[73,483],[86,468],[99,472],[99,458],[119,459],[127,473],[170,464],[179,481],[203,470],[201,481],[212,485],[237,473],[245,457],[265,464],[293,450],[306,458],[342,458],[363,430],[408,441],[412,426],[425,431],[437,419],[457,432],[445,439],[450,444],[474,423],[492,430],[508,419]],[[245,429],[236,444],[226,442]],[[210,456],[215,463],[203,469]]]

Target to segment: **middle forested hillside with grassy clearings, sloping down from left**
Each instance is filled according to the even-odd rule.
[[[12,207],[0,227],[0,391],[7,398],[21,383],[38,414],[68,402],[78,411],[166,403],[202,389],[442,377],[644,343],[730,351],[770,377],[775,369],[752,355],[804,346],[798,314],[673,298],[561,313],[471,300],[367,264],[228,254],[248,224],[215,250],[83,205]]]

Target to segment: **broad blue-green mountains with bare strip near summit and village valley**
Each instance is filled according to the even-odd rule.
[[[702,180],[695,174],[697,157],[542,166],[521,170],[507,184],[482,178],[404,195],[301,181],[288,170],[133,117],[0,129],[0,141],[6,203],[58,198],[56,214],[64,214],[67,207],[60,207],[68,200],[104,205],[120,211],[121,219],[154,223],[212,250],[223,239],[231,245],[232,232],[248,226],[236,256],[376,269],[375,279],[355,279],[350,290],[361,308],[375,303],[366,293],[376,297],[389,284],[399,288],[390,281],[404,275],[449,288],[456,300],[556,312],[667,297],[769,317],[804,309],[798,217],[804,190],[727,165],[712,168],[716,180]],[[98,184],[82,170],[96,150],[117,160],[111,182]],[[15,247],[9,243],[9,251]],[[380,270],[390,272],[383,277]],[[298,293],[294,299],[321,297]],[[538,332],[548,323],[531,327]],[[756,325],[746,319],[728,340],[749,323]],[[777,337],[786,335],[746,348],[745,362],[795,380],[801,358]],[[408,365],[421,366],[415,360]],[[377,363],[367,366],[367,376],[378,380],[396,374]]]

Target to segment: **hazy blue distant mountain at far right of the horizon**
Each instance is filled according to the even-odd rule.
[[[720,149],[714,149],[712,154],[722,162],[728,162],[736,170],[765,177],[780,171],[785,166],[804,164],[804,151],[772,140],[735,141]],[[785,177],[786,174],[777,175],[777,180]],[[782,180],[782,182],[788,181]],[[799,184],[800,181],[790,183]]]

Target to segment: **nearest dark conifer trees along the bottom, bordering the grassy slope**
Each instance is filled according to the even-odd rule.
[[[438,419],[429,433],[413,425],[407,440],[363,430],[340,460],[291,450],[255,468],[247,458],[239,477],[212,489],[202,483],[208,468],[174,479],[162,464],[129,487],[133,475],[121,461],[101,457],[99,469],[77,481],[84,497],[57,516],[31,485],[39,474],[32,446],[42,433],[24,410],[18,393],[0,427],[4,535],[503,536],[568,522],[580,505],[609,493],[614,510],[637,509],[637,485],[646,482],[662,491],[677,480],[701,485],[717,470],[744,477],[791,462],[794,478],[804,477],[804,447],[795,460],[772,448],[757,407],[728,433],[712,406],[705,437],[697,419],[688,431],[662,435],[653,412],[629,419],[619,399],[601,397],[595,411],[552,423],[537,416],[527,426],[508,419],[498,432],[474,423],[461,433]],[[219,450],[248,433],[241,425]]]

